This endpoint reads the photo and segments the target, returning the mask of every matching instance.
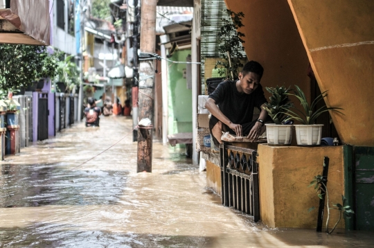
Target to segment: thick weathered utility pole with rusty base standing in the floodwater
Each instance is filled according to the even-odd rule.
[[[141,53],[154,53],[156,43],[157,0],[141,3]],[[141,60],[139,64],[139,120],[154,120],[154,60]],[[152,172],[152,129],[153,125],[138,129],[137,172]]]

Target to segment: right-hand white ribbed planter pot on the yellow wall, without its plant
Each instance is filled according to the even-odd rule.
[[[321,145],[323,124],[294,126],[298,145]]]

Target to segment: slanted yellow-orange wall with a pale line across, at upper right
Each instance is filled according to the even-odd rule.
[[[374,1],[288,0],[344,143],[374,145]]]

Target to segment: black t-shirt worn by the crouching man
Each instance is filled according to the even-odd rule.
[[[229,80],[221,82],[209,98],[215,100],[222,114],[232,123],[240,125],[250,123],[253,118],[253,109],[255,107],[260,109],[262,104],[267,103],[261,85],[258,85],[251,94],[245,94],[239,93],[236,81]]]

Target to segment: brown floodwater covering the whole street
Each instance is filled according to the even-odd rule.
[[[184,149],[157,140],[152,173],[136,173],[124,117],[75,124],[0,168],[0,247],[374,247],[374,233],[255,223],[222,206]]]

